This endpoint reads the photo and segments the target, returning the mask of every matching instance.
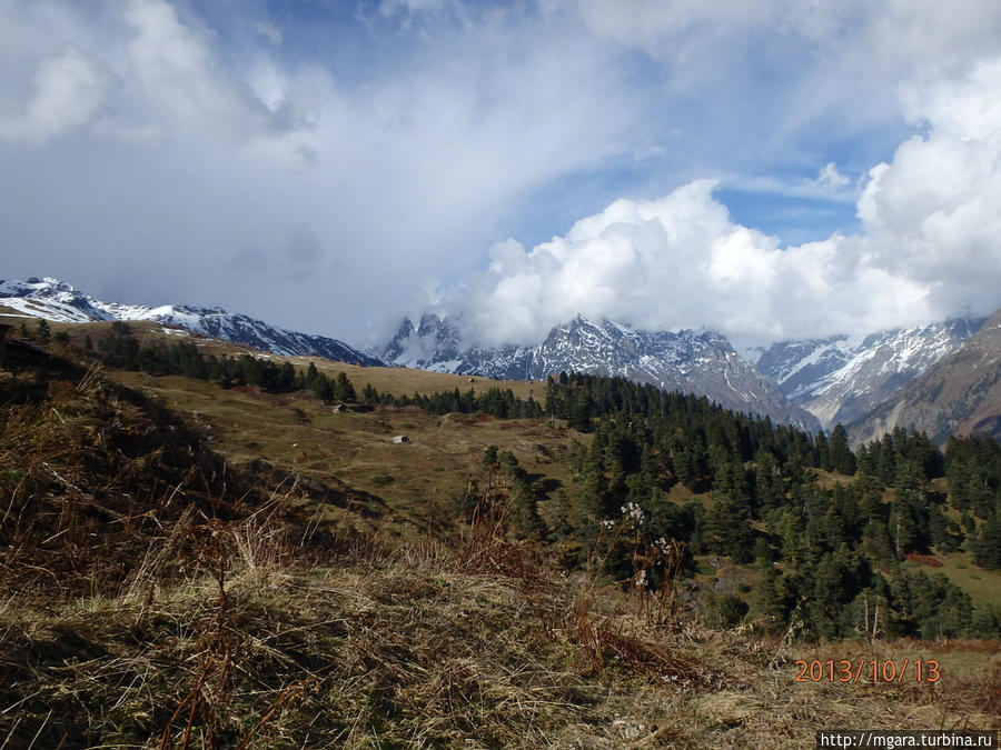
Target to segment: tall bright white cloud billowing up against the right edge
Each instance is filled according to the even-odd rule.
[[[1001,304],[1001,60],[911,99],[931,124],[870,172],[859,216],[875,262],[929,290],[934,310]]]

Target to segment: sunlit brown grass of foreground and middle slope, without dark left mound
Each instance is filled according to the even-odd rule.
[[[0,744],[27,747],[38,734],[36,747],[153,748],[169,727],[181,747],[189,719],[190,747],[212,736],[235,747],[259,724],[249,747],[294,748],[807,748],[824,727],[1001,723],[997,643],[789,646],[753,627],[707,630],[694,609],[675,629],[654,629],[634,598],[614,587],[593,597],[586,579],[566,577],[531,546],[494,542],[472,554],[469,542],[428,536],[418,499],[436,489],[450,499],[478,474],[487,444],[513,450],[529,472],[568,481],[561,450],[579,436],[414,410],[333,414],[309,400],[110,374],[188,414],[232,467],[234,486],[240,467],[257,471],[261,458],[275,467],[271,484],[301,481],[271,493],[283,513],[235,514],[198,537],[202,547],[176,569],[151,563],[188,533],[182,519],[165,516],[117,582],[69,597],[6,582]],[[38,410],[46,446],[67,443],[59,431],[77,424],[73,400],[91,398],[73,388],[58,397],[66,402]],[[102,418],[126,433],[146,423],[131,409]],[[32,429],[24,422],[6,433],[9,449],[33,456],[41,442],[28,440]],[[398,431],[414,443],[389,443]],[[62,477],[97,446],[97,433],[81,434],[57,467]],[[34,458],[43,471],[46,457]],[[374,482],[379,472],[394,481]],[[354,504],[310,502],[310,488],[351,493]],[[153,514],[165,506],[151,490],[136,501]],[[316,529],[304,531],[304,512],[331,530],[325,551],[303,541]],[[97,534],[118,528],[113,518],[96,523]],[[794,681],[796,659],[842,658],[935,658],[942,680]],[[197,701],[185,702],[189,694]]]

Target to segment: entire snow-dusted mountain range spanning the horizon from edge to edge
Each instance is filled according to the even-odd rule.
[[[992,420],[1001,413],[993,406],[1001,402],[997,314],[987,323],[960,319],[864,337],[782,341],[744,358],[712,331],[641,331],[583,316],[534,346],[480,348],[467,344],[453,321],[427,314],[417,323],[403,321],[388,342],[364,352],[220,308],[101,302],[48,278],[0,281],[0,304],[66,322],[150,320],[278,354],[365,366],[514,380],[561,371],[617,376],[705,396],[726,409],[811,432],[839,422],[853,426],[856,441],[894,426],[920,427],[935,437],[955,429],[998,431]],[[940,413],[943,409],[948,414]]]

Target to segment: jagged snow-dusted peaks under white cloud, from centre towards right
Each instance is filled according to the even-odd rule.
[[[636,331],[581,316],[535,347],[480,349],[464,346],[447,319],[425,316],[417,324],[405,320],[375,353],[394,364],[493,378],[542,379],[561,370],[621,376],[816,431],[861,419],[958,351],[983,323],[959,319],[782,341],[744,359],[720,333]]]

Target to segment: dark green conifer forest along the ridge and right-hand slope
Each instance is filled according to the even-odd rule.
[[[224,388],[561,420],[593,433],[589,444],[572,444],[573,486],[555,492],[533,486],[511,454],[485,460],[511,479],[516,537],[562,543],[584,561],[603,521],[638,508],[640,541],[683,543],[688,574],[703,556],[760,571],[753,592],[727,600],[731,621],[750,607],[767,627],[809,637],[1001,637],[997,607],[974,606],[943,576],[914,570],[908,560],[967,550],[977,566],[1001,569],[1001,448],[990,437],[952,437],[943,452],[923,433],[895,430],[852,451],[840,424],[830,436],[811,436],[705,398],[587,374],[551,377],[544,403],[496,388],[393,397],[370,384],[357,389],[344,373],[330,379],[311,363],[296,370],[248,354],[204,356],[190,342],[143,346],[123,323],[98,350],[113,367]],[[821,482],[824,474],[836,481]],[[678,484],[697,497],[670,499]],[[475,504],[476,478],[469,488],[456,499],[459,516]],[[547,501],[551,512],[543,513]],[[609,556],[607,572],[627,578],[630,566],[623,549]]]

